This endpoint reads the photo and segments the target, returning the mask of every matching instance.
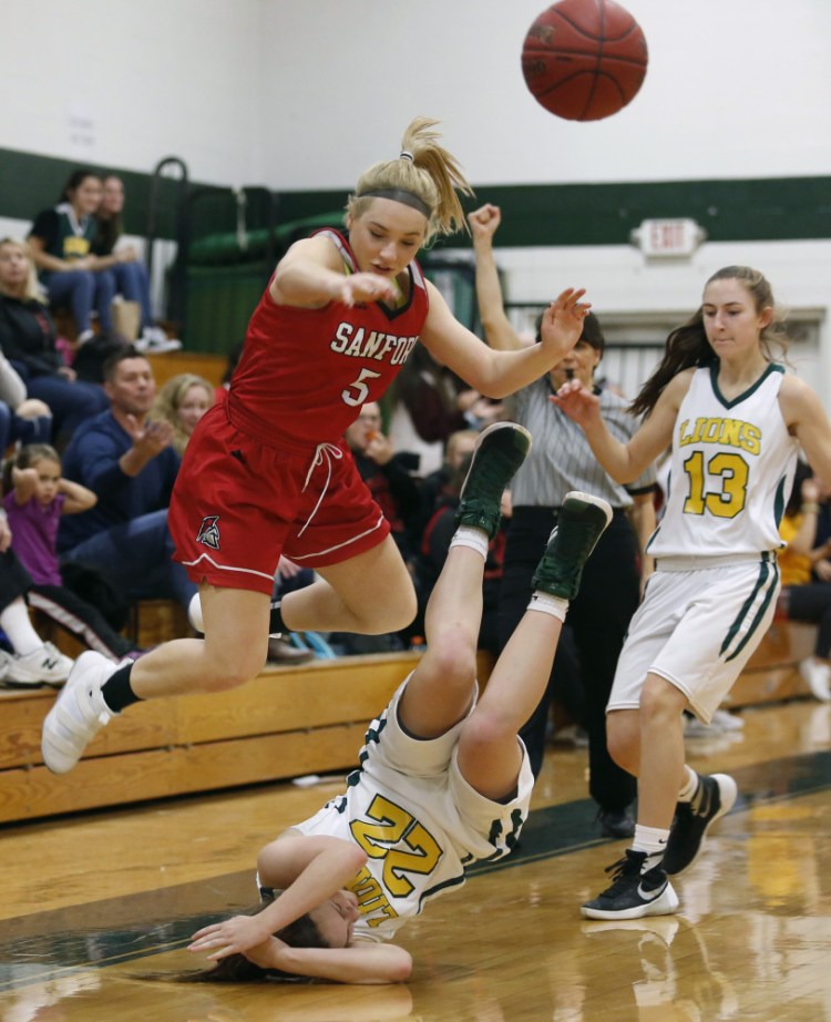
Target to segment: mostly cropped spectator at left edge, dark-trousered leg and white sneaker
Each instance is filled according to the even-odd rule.
[[[0,508],[0,628],[9,647],[0,648],[0,684],[9,688],[58,687],[69,677],[73,661],[35,632],[23,599],[32,580],[11,550],[11,541],[6,510]]]

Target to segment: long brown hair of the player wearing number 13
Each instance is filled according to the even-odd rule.
[[[772,288],[763,274],[750,266],[725,266],[709,278],[705,288],[714,280],[738,280],[753,299],[757,313],[761,313],[765,308],[773,309],[773,318],[759,335],[759,344],[769,361],[774,360],[774,348],[779,349],[780,357],[784,357],[790,339],[782,325],[783,313],[777,308]],[[667,337],[664,357],[640,388],[640,394],[629,406],[629,411],[634,415],[650,412],[667,384],[679,372],[694,366],[711,366],[717,361],[718,357],[710,347],[704,328],[704,306],[699,305],[695,315]]]

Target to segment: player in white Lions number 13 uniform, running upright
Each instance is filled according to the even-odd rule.
[[[787,348],[770,285],[729,266],[695,316],[667,339],[633,403],[647,417],[614,440],[597,398],[576,381],[553,400],[586,432],[619,482],[671,444],[669,494],[647,549],[656,571],[633,617],[607,707],[609,752],[638,777],[633,847],[614,882],[583,906],[589,919],[668,914],[668,877],[689,868],[708,828],[736,800],[724,774],[685,764],[683,711],[705,724],[768,628],[779,591],[779,520],[798,448],[831,481],[831,425],[818,396],[773,361]]]

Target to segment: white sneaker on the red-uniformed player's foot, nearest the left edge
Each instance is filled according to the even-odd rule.
[[[101,686],[119,664],[101,653],[82,653],[63,692],[43,722],[41,753],[53,774],[66,774],[86,746],[115,716],[101,694]]]

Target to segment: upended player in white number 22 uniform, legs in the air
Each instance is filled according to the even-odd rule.
[[[458,889],[470,862],[516,844],[533,787],[517,732],[542,697],[568,600],[612,518],[599,498],[566,498],[529,610],[478,699],[488,542],[530,440],[511,422],[480,436],[428,604],[423,656],[370,724],[343,795],[260,851],[264,908],[194,934],[191,950],[217,962],[197,975],[404,980],[410,954],[383,941],[430,899]]]

